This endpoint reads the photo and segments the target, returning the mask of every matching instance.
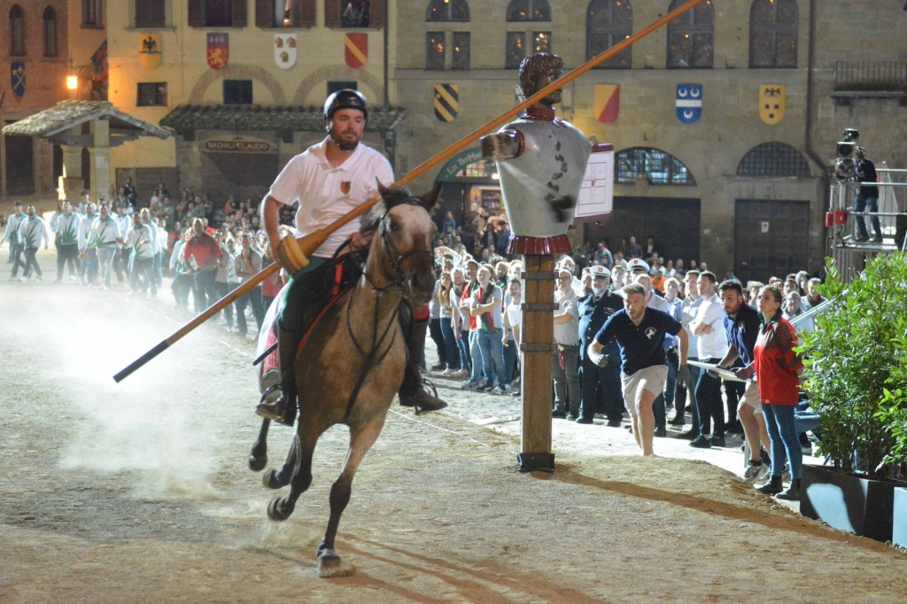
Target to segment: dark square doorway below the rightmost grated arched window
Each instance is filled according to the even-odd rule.
[[[736,200],[734,273],[767,283],[809,264],[809,201]]]

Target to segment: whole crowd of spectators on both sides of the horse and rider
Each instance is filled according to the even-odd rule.
[[[230,197],[219,206],[204,193],[182,190],[174,201],[163,185],[145,199],[140,200],[127,180],[113,200],[96,205],[86,192],[78,203],[61,202],[46,225],[48,239],[54,239],[57,249],[56,281],[61,282],[68,270],[70,279],[86,287],[124,287],[131,295],[154,296],[167,276],[177,307],[200,313],[273,262],[260,229],[258,204],[251,199],[237,202]],[[292,224],[294,212],[294,208],[285,209],[281,223]],[[17,207],[5,219],[3,238],[10,242],[12,276],[19,279],[23,278],[16,276],[17,269],[25,268],[19,258],[24,253],[19,232],[25,219],[27,213]],[[103,232],[103,225],[112,233]],[[438,278],[430,305],[430,334],[439,362],[430,369],[462,379],[465,389],[493,395],[520,392],[522,264],[506,255],[509,238],[502,214],[480,210],[468,216],[465,228],[446,212],[434,242]],[[38,270],[34,271],[36,278],[40,278]],[[666,260],[655,239],[649,237],[640,245],[631,235],[616,249],[607,240],[580,246],[571,256],[559,259],[556,271],[552,414],[581,424],[592,424],[593,418],[601,417],[609,425],[620,425],[624,405],[616,373],[618,352],[613,347],[606,351],[613,360],[610,369],[592,367],[584,360],[585,346],[594,336],[592,327],[597,329],[604,318],[622,307],[620,288],[630,282],[645,288],[650,307],[681,320],[685,309],[695,309],[701,298],[699,278],[712,274],[706,262]],[[26,273],[24,278],[28,277]],[[717,282],[714,275],[711,279],[713,284]],[[819,282],[805,271],[766,278],[766,285],[777,284],[783,291],[781,310],[788,320],[823,301],[816,289]],[[282,285],[275,273],[224,308],[221,325],[239,336],[249,333],[251,320],[260,327]],[[763,286],[755,281],[743,284],[746,303],[755,306]],[[598,316],[599,311],[592,307],[593,303],[601,306],[601,297],[608,298],[604,306],[610,310]],[[685,326],[689,323],[687,320]],[[804,330],[813,328],[809,317],[795,324]],[[695,336],[691,342],[690,356],[695,358]],[[676,341],[666,338],[668,381],[653,409],[657,436],[667,435],[671,408],[675,409],[671,424],[683,425],[686,409],[692,412],[694,424],[701,423],[695,401],[688,404],[687,400],[695,398],[694,390],[675,378],[676,346]],[[725,382],[723,393],[727,414],[714,416],[716,425],[710,429],[713,434],[739,434],[736,407],[741,388]]]

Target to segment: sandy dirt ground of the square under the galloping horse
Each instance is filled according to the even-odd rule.
[[[0,249],[5,261],[7,249]],[[246,466],[251,339],[217,323],[112,375],[189,317],[167,295],[0,281],[0,602],[903,601],[907,555],[808,521],[723,469],[740,453],[555,424],[553,474],[516,472],[519,407],[438,380],[392,407],[317,577],[346,429],[285,522]],[[0,264],[0,266],[3,266]],[[9,266],[9,265],[5,265]],[[49,277],[49,278],[48,278]],[[167,286],[165,279],[165,287]],[[290,431],[275,427],[273,465]]]

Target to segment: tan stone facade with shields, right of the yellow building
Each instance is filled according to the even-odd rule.
[[[394,81],[407,92],[402,173],[513,106],[514,54],[547,49],[570,70],[683,0],[397,4],[399,14],[415,15],[395,34]],[[562,115],[614,145],[617,180],[610,220],[577,229],[575,239],[608,238],[615,248],[629,234],[653,235],[668,258],[707,259],[719,276],[820,268],[828,170],[842,129],[860,129],[878,160],[907,159],[898,143],[905,24],[903,3],[892,0],[859,8],[715,0],[584,73],[566,87]],[[469,44],[468,64],[454,56],[464,53],[455,42]],[[862,63],[863,73],[844,83],[843,63]],[[891,69],[891,81],[862,81],[878,69]],[[452,121],[434,114],[436,84],[456,87]],[[783,117],[760,116],[760,86],[783,92]],[[680,88],[701,91],[695,120],[681,119]]]

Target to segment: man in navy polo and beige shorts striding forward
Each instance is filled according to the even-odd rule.
[[[652,403],[665,388],[668,377],[668,357],[665,355],[665,335],[677,336],[680,343],[678,380],[689,379],[687,367],[687,332],[668,313],[648,308],[646,290],[638,283],[621,290],[623,310],[611,315],[601,326],[589,345],[589,357],[594,363],[602,361],[601,352],[611,338],[620,347],[620,383],[624,402],[633,421],[633,437],[643,455],[652,454],[655,416]]]

